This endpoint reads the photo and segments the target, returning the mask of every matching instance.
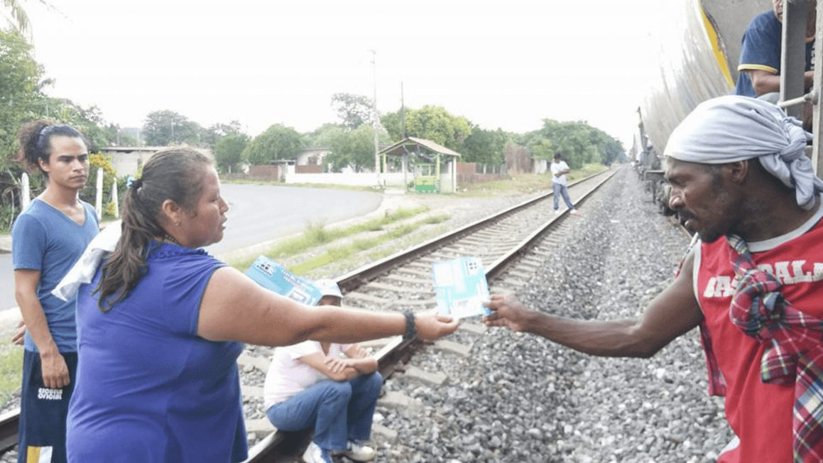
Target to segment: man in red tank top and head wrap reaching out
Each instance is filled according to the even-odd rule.
[[[709,393],[737,438],[721,463],[823,461],[823,182],[811,134],[774,104],[700,104],[666,146],[669,206],[701,243],[636,319],[580,321],[494,295],[490,326],[649,357],[700,326]]]

